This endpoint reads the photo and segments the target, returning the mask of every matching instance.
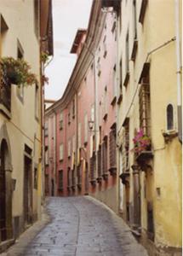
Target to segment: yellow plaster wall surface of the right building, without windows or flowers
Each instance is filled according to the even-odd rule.
[[[125,39],[129,29],[129,55],[134,42],[132,2],[122,2],[122,33],[119,38],[119,55],[123,55],[123,80],[125,77]],[[137,20],[140,14],[140,3],[137,2]],[[181,1],[180,1],[181,2]],[[153,49],[167,43],[175,37],[174,1],[150,0],[146,8],[143,25],[137,21],[138,51],[135,61],[129,61],[130,79],[127,88],[123,86],[123,102],[118,108],[118,131],[123,120],[130,118],[129,138],[133,148],[134,128],[139,130],[139,99],[138,81],[142,67],[150,62],[151,87],[151,120],[152,120],[152,174],[140,172],[141,183],[141,226],[147,229],[146,196],[153,201],[155,244],[159,246],[181,247],[181,144],[178,137],[172,142],[165,143],[163,131],[166,131],[166,108],[169,103],[174,106],[174,130],[177,131],[177,79],[175,41],[164,45],[161,49]],[[121,44],[120,44],[121,43]],[[137,93],[134,96],[135,90]],[[134,97],[134,101],[132,99]],[[131,107],[130,107],[131,106]],[[128,114],[127,114],[128,113]],[[118,137],[120,141],[120,136]],[[119,154],[118,154],[119,156]],[[130,166],[134,163],[133,152],[129,153]],[[118,166],[120,170],[120,166]],[[134,204],[133,174],[130,170],[130,202]],[[123,186],[123,185],[120,185]],[[160,188],[160,195],[157,195]],[[150,192],[150,190],[152,191]],[[124,191],[124,190],[123,190]],[[121,193],[122,194],[122,193]],[[149,194],[149,195],[148,195]],[[150,195],[151,194],[151,195]],[[125,195],[123,195],[125,197]],[[124,204],[123,200],[123,204]],[[125,206],[123,206],[125,208]]]

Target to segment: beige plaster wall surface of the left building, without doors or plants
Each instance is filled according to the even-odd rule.
[[[37,74],[39,81],[39,42],[34,32],[34,5],[33,1],[1,1],[1,14],[9,26],[2,42],[2,56],[17,58],[17,39],[24,50],[24,59],[31,65],[31,72]],[[40,84],[40,83],[39,83]],[[38,85],[39,85],[38,84]],[[23,103],[17,96],[17,86],[12,85],[11,119],[0,113],[0,127],[6,123],[8,127],[11,154],[12,177],[16,179],[16,189],[13,192],[13,217],[21,216],[23,212],[23,174],[24,174],[24,146],[32,149],[32,180],[34,164],[38,165],[38,189],[33,189],[33,212],[40,215],[41,204],[41,118],[39,98],[39,122],[35,119],[35,85],[24,88]],[[40,92],[39,92],[40,94]],[[35,139],[36,135],[36,139]],[[37,212],[37,208],[39,212]]]

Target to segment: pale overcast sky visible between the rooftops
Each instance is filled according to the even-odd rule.
[[[70,54],[78,28],[87,28],[92,0],[52,0],[54,58],[45,69],[45,99],[58,100],[66,89],[77,56]]]

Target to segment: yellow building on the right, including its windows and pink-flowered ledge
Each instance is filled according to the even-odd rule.
[[[119,212],[150,255],[181,248],[180,5],[122,1],[118,19]]]

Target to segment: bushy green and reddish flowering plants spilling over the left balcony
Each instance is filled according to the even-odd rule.
[[[1,73],[8,84],[31,85],[37,83],[34,73],[31,73],[31,66],[23,59],[15,60],[13,57],[1,59]]]

